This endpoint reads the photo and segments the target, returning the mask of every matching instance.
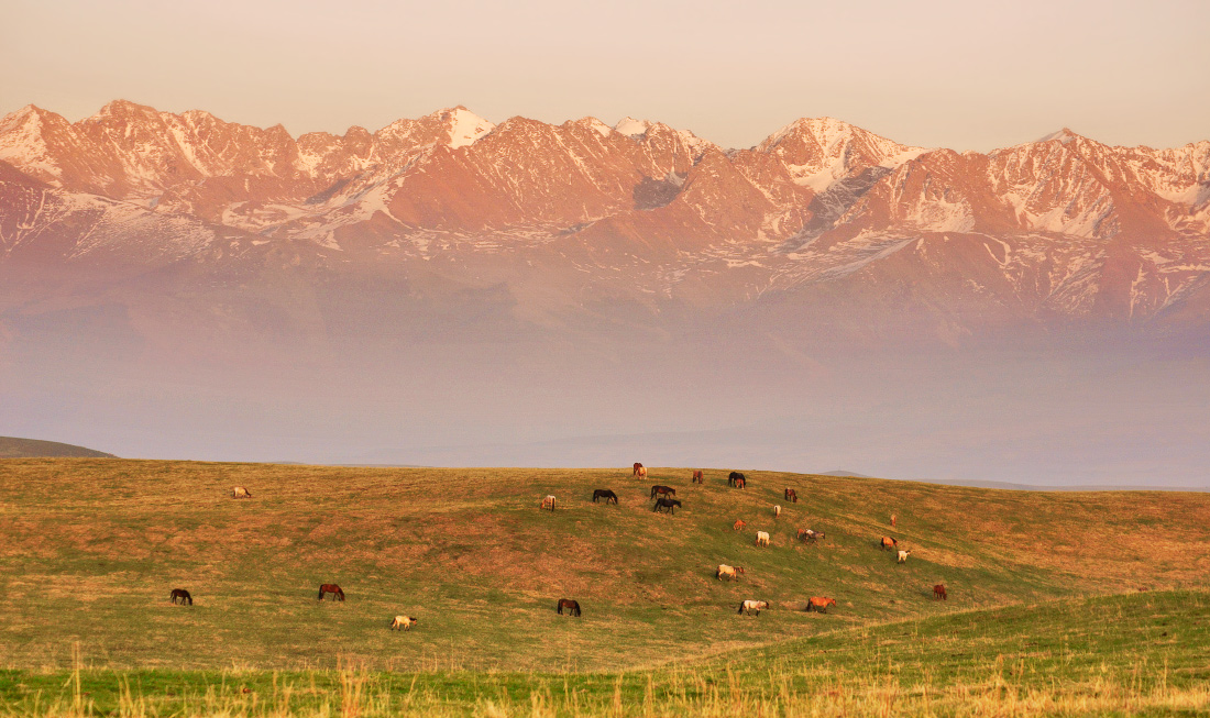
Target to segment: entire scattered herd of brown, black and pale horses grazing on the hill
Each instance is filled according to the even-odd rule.
[[[647,469],[646,469],[646,467],[644,467],[641,463],[635,462],[633,476],[639,477],[639,479],[645,479],[647,476]],[[705,481],[704,481],[704,476],[703,476],[702,470],[701,469],[693,469],[693,473],[692,473],[692,476],[691,476],[690,481],[691,481],[691,484],[704,485]],[[736,488],[747,488],[748,487],[748,479],[747,479],[747,476],[744,476],[739,471],[731,471],[727,475],[727,484],[730,486],[732,486],[732,487],[736,487]],[[232,498],[237,498],[237,499],[241,499],[241,498],[252,498],[252,493],[246,487],[243,487],[243,486],[236,486],[231,491],[231,496],[232,496]],[[664,486],[664,485],[658,485],[658,484],[655,485],[655,486],[652,486],[651,487],[650,498],[655,499],[655,505],[652,506],[651,510],[655,511],[655,513],[664,513],[664,511],[667,511],[669,514],[675,515],[676,509],[678,508],[682,508],[681,502],[679,499],[676,499],[676,498],[673,498],[675,496],[676,496],[676,490],[673,488],[672,486]],[[797,503],[799,502],[799,494],[797,494],[797,492],[795,490],[793,490],[793,488],[789,488],[789,487],[786,487],[785,491],[783,492],[783,497],[784,497],[784,499],[786,502],[790,502],[790,503]],[[617,497],[617,494],[615,492],[612,492],[609,488],[598,488],[598,490],[593,491],[593,499],[592,500],[593,500],[594,504],[598,500],[604,500],[606,504],[609,504],[610,502],[612,502],[616,505],[618,503],[618,497]],[[555,508],[557,508],[557,505],[558,505],[558,498],[554,497],[553,494],[547,494],[546,497],[542,498],[540,508],[543,509],[543,510],[554,511]],[[780,516],[780,514],[782,514],[782,506],[780,505],[774,505],[773,506],[773,517],[778,519]],[[891,526],[892,527],[895,526],[895,516],[894,516],[894,514],[891,515]],[[743,531],[747,527],[748,527],[748,522],[747,521],[744,521],[743,519],[737,519],[736,522],[732,525],[731,528],[732,528],[732,531]],[[802,543],[806,543],[806,544],[816,544],[816,543],[818,543],[823,538],[825,538],[823,533],[813,531],[811,528],[801,528],[801,529],[799,529],[799,532],[796,534],[796,539],[800,540],[800,542],[802,542]],[[765,531],[757,531],[756,532],[756,545],[757,546],[768,546],[770,543],[771,543],[771,537],[770,537],[768,532],[765,532]],[[905,563],[908,561],[908,556],[911,555],[911,551],[899,549],[899,542],[895,538],[893,538],[893,537],[882,537],[880,539],[880,542],[878,542],[878,548],[882,549],[882,550],[897,551],[898,552],[898,561],[897,561],[898,563]],[[725,563],[720,563],[719,567],[718,567],[718,569],[716,569],[716,572],[715,572],[715,577],[720,581],[722,579],[725,579],[725,578],[730,579],[730,580],[737,580],[738,577],[741,577],[743,574],[744,574],[744,567],[742,567],[742,566],[727,566]],[[345,600],[345,592],[341,590],[341,587],[339,585],[336,585],[336,584],[322,584],[319,586],[319,593],[317,596],[317,600],[318,601],[323,601],[323,598],[325,596],[329,596],[329,595],[335,601],[344,601]],[[949,598],[949,595],[946,592],[946,589],[945,589],[944,584],[937,584],[935,586],[933,586],[933,598],[937,600],[937,601],[946,601]],[[194,604],[194,597],[185,589],[173,589],[172,592],[171,592],[171,595],[169,595],[169,600],[172,601],[172,603],[178,603],[179,602],[182,606],[185,606],[185,604],[192,606]],[[818,613],[828,613],[828,607],[829,606],[836,606],[836,600],[835,598],[830,598],[828,596],[812,596],[807,601],[805,610],[807,610],[807,612],[814,610],[814,612],[818,612]],[[736,610],[736,613],[738,613],[738,614],[748,614],[748,615],[753,615],[753,614],[760,615],[761,610],[767,610],[768,608],[770,608],[770,602],[768,601],[753,601],[753,600],[748,600],[748,601],[743,601],[739,604],[739,608],[738,608],[738,610]],[[555,612],[559,615],[563,615],[564,610],[566,610],[567,614],[572,615],[572,616],[580,616],[581,613],[582,613],[580,603],[577,601],[571,600],[571,598],[560,598],[558,601],[558,603],[555,604]],[[414,616],[397,615],[391,621],[391,630],[408,631],[408,630],[411,629],[411,626],[416,625],[417,620],[419,619],[416,619]]]

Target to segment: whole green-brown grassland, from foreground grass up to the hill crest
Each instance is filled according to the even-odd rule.
[[[726,473],[0,461],[0,713],[1210,710],[1208,494]]]

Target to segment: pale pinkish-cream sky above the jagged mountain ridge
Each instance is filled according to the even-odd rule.
[[[832,116],[990,150],[1210,139],[1205,0],[0,0],[0,114],[122,98],[292,134],[463,104],[750,146]]]

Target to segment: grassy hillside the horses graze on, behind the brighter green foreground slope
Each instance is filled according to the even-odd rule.
[[[635,670],[837,629],[1089,593],[1199,589],[1210,496],[1018,493],[687,469],[0,464],[0,664],[113,668]],[[684,509],[656,515],[651,484]],[[253,498],[235,500],[232,486]],[[802,500],[785,504],[782,490]],[[36,487],[36,488],[34,488]],[[621,504],[592,504],[610,487]],[[538,499],[554,493],[555,513]],[[785,511],[772,517],[774,503]],[[898,529],[887,526],[898,515]],[[733,532],[736,519],[749,528]],[[826,533],[817,546],[795,529]],[[772,533],[757,549],[753,531]],[[906,564],[875,548],[883,534]],[[737,583],[719,563],[747,567]],[[345,603],[316,601],[339,583]],[[945,583],[947,602],[930,598]],[[192,607],[172,606],[185,587]],[[795,610],[812,595],[839,606]],[[581,619],[554,602],[581,602]],[[743,598],[773,608],[736,615]],[[387,630],[401,613],[408,635]],[[63,620],[70,616],[71,620]]]

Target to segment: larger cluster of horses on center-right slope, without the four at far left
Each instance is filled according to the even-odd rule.
[[[645,479],[647,476],[647,469],[646,469],[646,467],[644,467],[639,462],[635,462],[634,463],[634,473],[632,474],[632,476],[633,477],[638,477],[638,479]],[[692,476],[690,479],[690,482],[691,484],[701,484],[701,485],[705,484],[705,480],[703,477],[703,473],[702,473],[701,469],[693,469],[693,473],[692,473]],[[747,488],[748,487],[748,477],[744,476],[739,471],[731,471],[727,475],[727,485],[733,486],[736,488]],[[676,490],[673,488],[672,486],[664,486],[664,485],[659,485],[659,484],[652,486],[651,487],[651,494],[650,494],[649,498],[655,499],[655,505],[652,506],[651,510],[656,511],[656,513],[668,511],[669,514],[675,515],[676,509],[678,508],[682,508],[680,500],[678,500],[675,498],[670,498],[670,497],[675,497],[675,496],[676,496]],[[795,490],[793,490],[793,488],[786,487],[785,491],[783,492],[783,497],[785,498],[786,502],[790,502],[790,503],[794,503],[794,504],[799,503],[799,493]],[[617,494],[613,493],[609,488],[598,488],[598,490],[593,491],[593,503],[595,504],[598,499],[605,499],[606,504],[610,503],[610,502],[613,502],[613,504],[617,504]],[[547,494],[542,499],[541,508],[542,509],[549,509],[551,511],[553,511],[554,506],[557,504],[557,500],[558,499],[554,496]],[[780,515],[782,515],[782,506],[780,505],[774,505],[773,506],[773,519],[774,520],[779,519]],[[891,515],[891,526],[892,527],[895,526],[895,515],[894,514]],[[731,526],[732,531],[743,531],[747,527],[748,527],[748,522],[744,521],[743,519],[737,519],[736,522]],[[824,534],[822,532],[818,532],[818,531],[814,531],[814,529],[811,529],[811,528],[800,528],[799,532],[797,532],[797,534],[796,534],[796,538],[797,538],[797,540],[800,540],[800,542],[802,542],[805,544],[817,544],[820,539],[823,539],[825,537],[824,537]],[[766,531],[757,531],[756,532],[756,545],[757,546],[768,546],[770,543],[771,543],[771,540],[772,539],[771,539],[768,532],[766,532]],[[893,538],[893,537],[882,537],[881,540],[878,542],[878,546],[881,549],[883,549],[883,550],[894,550],[894,551],[898,551],[898,561],[897,561],[898,563],[906,563],[908,556],[911,555],[911,551],[899,549],[899,540],[895,539],[895,538]],[[738,579],[739,575],[743,575],[743,573],[744,573],[744,568],[742,566],[727,566],[725,563],[720,563],[719,568],[715,572],[715,577],[720,581],[722,579],[725,579],[725,578],[726,579],[731,579],[731,580],[736,580],[736,579]],[[943,584],[937,584],[935,586],[933,586],[933,597],[935,600],[938,600],[938,601],[945,601],[945,600],[947,600],[946,590],[945,590],[945,586]],[[812,596],[807,601],[807,606],[806,606],[805,610],[808,610],[808,612],[814,610],[814,612],[818,612],[818,613],[828,613],[828,607],[829,606],[836,606],[836,600],[835,598],[830,598],[828,596]],[[571,600],[567,600],[567,598],[560,598],[559,603],[558,603],[558,606],[555,608],[558,609],[558,613],[561,615],[563,614],[563,609],[564,608],[569,608],[569,607],[575,607],[574,612],[572,612],[572,615],[580,615],[580,604],[576,603],[575,601],[571,601]],[[739,609],[736,613],[748,614],[748,615],[751,615],[751,614],[760,615],[760,612],[762,609],[768,609],[768,607],[770,607],[770,603],[767,601],[744,601],[743,603],[739,604]]]

